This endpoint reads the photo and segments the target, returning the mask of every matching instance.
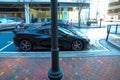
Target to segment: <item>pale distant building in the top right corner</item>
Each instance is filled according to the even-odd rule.
[[[120,0],[109,0],[108,15],[114,19],[120,19]]]

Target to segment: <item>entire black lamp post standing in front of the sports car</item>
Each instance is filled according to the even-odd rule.
[[[50,80],[61,80],[63,72],[59,67],[59,48],[58,48],[58,31],[57,31],[57,0],[51,0],[51,30],[52,30],[52,66],[48,71]]]

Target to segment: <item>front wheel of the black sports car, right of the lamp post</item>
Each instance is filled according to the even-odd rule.
[[[83,42],[81,40],[74,40],[72,42],[72,50],[73,51],[80,51],[84,47]]]

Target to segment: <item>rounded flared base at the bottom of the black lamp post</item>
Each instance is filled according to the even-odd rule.
[[[52,69],[48,71],[48,78],[50,80],[61,80],[62,77],[63,77],[62,69],[59,69],[58,71],[55,72]]]

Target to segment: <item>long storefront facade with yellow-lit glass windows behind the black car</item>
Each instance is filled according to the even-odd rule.
[[[84,23],[90,17],[89,0],[59,0],[58,19],[78,21],[78,12],[81,11],[81,21]],[[29,15],[29,16],[28,16]],[[51,9],[49,0],[0,0],[0,17],[14,16],[23,19],[49,21]],[[26,17],[27,16],[27,17]]]

